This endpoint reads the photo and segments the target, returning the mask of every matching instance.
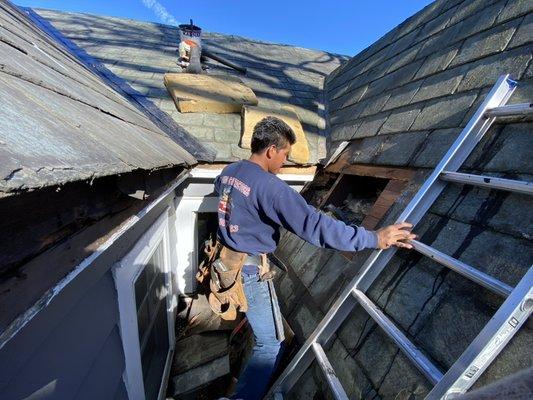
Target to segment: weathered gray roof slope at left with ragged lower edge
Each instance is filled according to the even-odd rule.
[[[0,197],[196,163],[175,137],[4,1],[0,60]]]

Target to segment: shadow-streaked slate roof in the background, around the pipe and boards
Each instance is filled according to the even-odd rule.
[[[145,96],[215,150],[216,161],[249,156],[249,150],[237,145],[241,133],[240,115],[181,114],[176,110],[163,85],[166,72],[181,72],[176,64],[175,50],[179,43],[176,27],[88,14],[35,11],[64,37],[123,79],[131,91]],[[202,24],[201,20],[195,22]],[[323,81],[348,57],[209,32],[203,32],[203,43],[211,52],[248,69],[243,75],[210,61],[209,73],[241,77],[258,96],[260,106],[294,107],[307,134],[310,163],[325,156]]]

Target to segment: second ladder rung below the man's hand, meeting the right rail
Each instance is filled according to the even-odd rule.
[[[377,322],[389,337],[400,347],[405,355],[434,385],[442,379],[442,372],[398,329],[391,320],[358,289],[352,291],[353,296],[366,312]]]

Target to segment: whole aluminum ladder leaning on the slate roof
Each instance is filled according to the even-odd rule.
[[[409,221],[416,225],[428,211],[448,182],[477,185],[490,189],[533,194],[531,182],[472,175],[457,172],[474,147],[498,117],[526,115],[533,104],[505,105],[517,83],[509,75],[501,76],[485,101],[472,116],[446,155],[420,190],[407,205],[396,223]],[[411,242],[414,250],[484,286],[506,300],[485,325],[459,359],[444,374],[420,351],[394,323],[374,304],[365,292],[386,267],[396,248],[375,250],[356,276],[332,305],[315,331],[303,344],[290,364],[276,380],[267,397],[283,399],[305,370],[316,359],[335,399],[348,399],[324,347],[356,304],[359,304],[403,351],[407,358],[434,385],[426,399],[450,399],[466,392],[490,365],[514,334],[528,319],[533,308],[533,266],[515,288],[456,260],[419,241]]]

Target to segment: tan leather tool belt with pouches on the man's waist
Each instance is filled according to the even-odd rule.
[[[196,280],[209,291],[213,312],[224,320],[233,321],[238,311],[248,309],[241,279],[243,265],[257,265],[261,279],[273,276],[266,254],[249,256],[214,240],[206,241],[204,252],[205,259],[198,268]]]

